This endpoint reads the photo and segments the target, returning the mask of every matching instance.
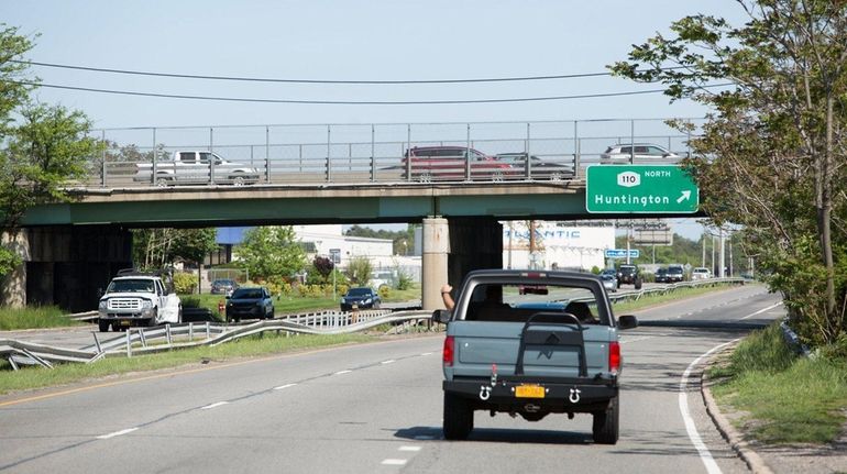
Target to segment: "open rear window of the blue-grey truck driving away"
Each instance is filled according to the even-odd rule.
[[[532,315],[544,312],[553,319],[556,315],[571,313],[583,324],[601,323],[596,297],[588,288],[492,283],[468,290],[466,321],[526,322]],[[571,319],[563,316],[562,321]]]

